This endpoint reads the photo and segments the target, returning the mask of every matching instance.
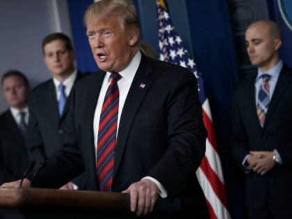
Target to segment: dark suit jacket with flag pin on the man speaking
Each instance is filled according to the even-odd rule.
[[[100,71],[76,84],[65,147],[49,160],[34,186],[58,187],[85,170],[87,188],[99,190],[92,127],[104,75]],[[193,72],[143,55],[118,129],[113,191],[154,177],[169,199],[181,200],[181,216],[209,217],[195,173],[204,156],[206,129]]]

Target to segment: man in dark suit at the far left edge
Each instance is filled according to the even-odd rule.
[[[29,98],[29,80],[22,72],[10,70],[3,74],[2,90],[8,110],[0,115],[0,183],[22,177],[29,164],[25,147],[26,133],[19,128],[22,122],[29,120],[27,102]]]

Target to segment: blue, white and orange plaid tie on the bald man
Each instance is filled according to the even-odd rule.
[[[270,74],[261,75],[263,83],[259,87],[259,95],[257,99],[257,115],[259,117],[259,123],[263,127],[263,123],[266,120],[266,113],[268,111],[268,104],[270,102],[270,85],[268,81],[270,80]]]

